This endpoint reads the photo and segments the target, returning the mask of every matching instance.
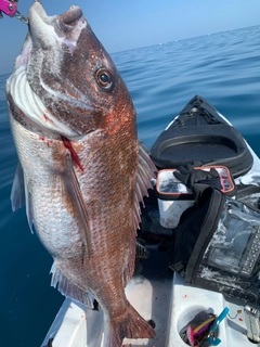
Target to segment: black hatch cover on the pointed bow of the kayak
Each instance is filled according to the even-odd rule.
[[[160,133],[151,154],[160,169],[187,164],[223,165],[233,178],[245,175],[253,163],[240,133],[198,95]]]

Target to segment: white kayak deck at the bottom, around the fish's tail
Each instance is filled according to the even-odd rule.
[[[155,322],[154,339],[125,339],[123,347],[187,347],[180,331],[199,311],[220,314],[225,307],[230,314],[221,322],[220,347],[250,347],[245,325],[244,305],[227,301],[222,294],[193,287],[174,274],[173,279],[147,280],[134,277],[127,286],[127,296],[138,311]],[[237,312],[239,312],[237,314]],[[65,299],[41,347],[100,347],[103,338],[103,313]],[[49,345],[48,345],[49,342]],[[253,344],[260,347],[260,344]],[[207,347],[207,343],[204,347]]]

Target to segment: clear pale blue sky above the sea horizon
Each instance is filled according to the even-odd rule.
[[[49,15],[79,5],[92,29],[112,52],[260,25],[260,0],[41,0]],[[32,0],[20,0],[27,15]],[[0,74],[10,73],[27,27],[0,20]]]

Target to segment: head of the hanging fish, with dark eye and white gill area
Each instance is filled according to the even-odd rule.
[[[48,16],[35,2],[29,31],[8,81],[8,94],[41,129],[69,139],[95,130],[135,131],[129,91],[82,10]]]

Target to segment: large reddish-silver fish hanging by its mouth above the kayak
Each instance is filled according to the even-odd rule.
[[[104,346],[154,338],[128,301],[143,196],[156,177],[136,134],[128,88],[73,5],[48,16],[35,2],[28,34],[6,81],[18,165],[13,210],[53,257],[51,285],[104,312]],[[150,319],[150,318],[146,318]]]

